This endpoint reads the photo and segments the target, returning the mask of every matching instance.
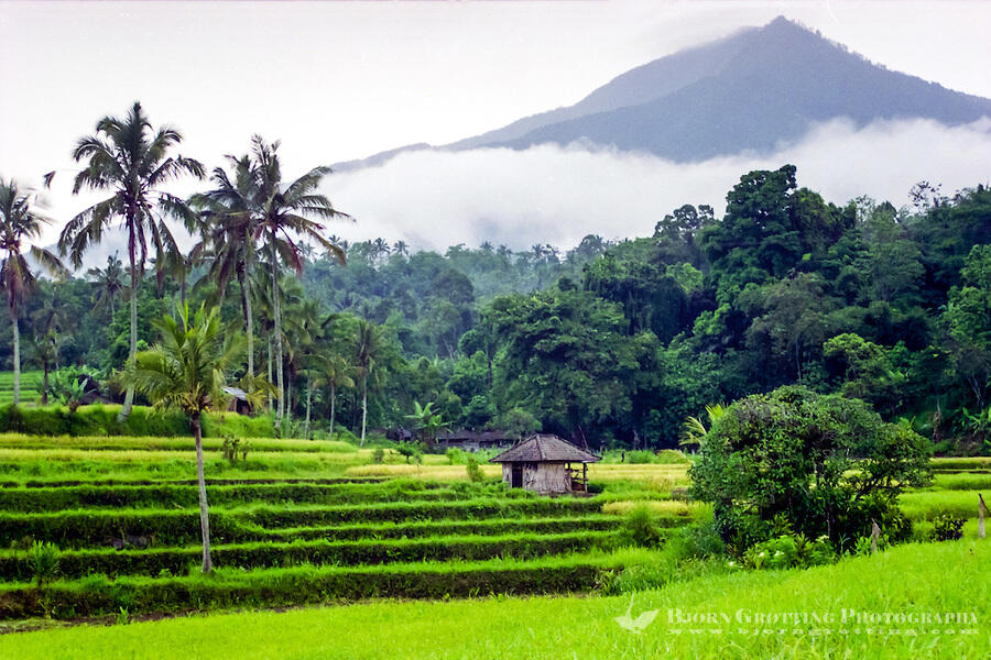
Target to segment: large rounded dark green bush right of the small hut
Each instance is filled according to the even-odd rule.
[[[689,470],[690,495],[714,504],[723,540],[738,551],[766,539],[777,515],[836,543],[878,519],[895,540],[911,529],[894,503],[928,483],[928,441],[884,424],[863,402],[786,386],[726,409]]]

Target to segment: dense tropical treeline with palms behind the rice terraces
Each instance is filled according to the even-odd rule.
[[[116,176],[86,151],[113,153],[120,127],[108,121],[76,154],[89,158],[79,176],[96,188]],[[115,121],[146,120],[135,106]],[[276,420],[302,425],[285,432],[340,420],[356,432],[412,427],[427,440],[447,426],[673,447],[707,405],[801,384],[904,418],[940,451],[991,446],[984,186],[949,197],[923,183],[901,209],[865,197],[837,206],[799,187],[787,165],[742,176],[721,218],[686,205],[650,237],[589,235],[567,252],[486,243],[411,253],[403,242],[325,238],[325,221],[347,218],[316,193],[327,170],[283,182],[277,146],[257,138],[189,200],[159,193],[162,213],[199,237],[192,251],[139,215],[150,245],[137,261],[34,283],[13,306],[25,359],[46,373],[98,370],[104,394],[119,399],[113,372],[182,299],[250,330],[235,380],[264,393]],[[196,162],[166,162],[205,175]],[[104,211],[63,230],[73,262],[118,212]],[[0,346],[8,363],[10,345]]]

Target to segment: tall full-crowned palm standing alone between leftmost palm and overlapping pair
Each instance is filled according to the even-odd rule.
[[[138,352],[138,287],[144,276],[149,238],[163,264],[166,245],[174,243],[162,215],[181,219],[190,231],[195,215],[177,197],[159,189],[185,174],[203,178],[203,165],[183,156],[167,156],[182,142],[175,129],[153,129],[148,116],[135,102],[124,118],[105,117],[96,124],[96,134],[79,140],[73,152],[86,166],[76,175],[73,194],[84,189],[110,190],[112,195],[72,220],[62,230],[58,249],[73,265],[83,265],[83,254],[102,239],[104,231],[120,220],[128,234],[128,261],[131,275],[131,338],[128,362]],[[129,387],[119,418],[131,414],[134,388]]]

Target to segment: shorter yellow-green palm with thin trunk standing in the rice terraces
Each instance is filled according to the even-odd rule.
[[[155,407],[178,409],[189,417],[196,441],[196,479],[199,484],[199,527],[203,535],[203,572],[214,570],[210,559],[210,521],[203,471],[203,414],[224,408],[222,387],[241,359],[243,342],[220,322],[216,308],[200,306],[189,317],[187,305],[177,306],[178,319],[165,316],[155,327],[161,341],[142,351],[123,380],[146,395]]]

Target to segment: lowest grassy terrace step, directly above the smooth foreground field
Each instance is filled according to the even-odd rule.
[[[0,618],[47,614],[78,618],[117,613],[162,613],[232,606],[273,607],[372,597],[446,598],[484,594],[586,592],[603,571],[652,561],[656,554],[624,550],[519,560],[416,561],[368,566],[303,565],[218,570],[210,575],[94,574],[78,581],[0,585]]]

